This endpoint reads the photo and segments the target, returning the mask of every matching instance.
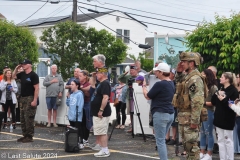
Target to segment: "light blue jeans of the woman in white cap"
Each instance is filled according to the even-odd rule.
[[[174,113],[155,112],[153,114],[153,127],[155,131],[156,145],[158,147],[158,154],[161,160],[167,160],[167,147],[165,136],[171,127],[174,119]]]

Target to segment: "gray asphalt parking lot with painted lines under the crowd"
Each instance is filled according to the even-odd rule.
[[[155,141],[153,137],[147,136],[144,142],[141,135],[132,137],[131,133],[127,133],[124,129],[114,129],[108,147],[111,155],[105,159],[109,160],[148,160],[159,159],[158,152],[155,150]],[[112,127],[109,127],[109,134]],[[34,142],[21,143],[17,142],[20,138],[20,125],[13,131],[2,129],[0,132],[0,160],[5,159],[61,159],[61,160],[96,160],[93,156],[96,151],[91,148],[84,148],[79,153],[67,153],[64,151],[65,126],[58,128],[47,128],[43,125],[35,126]],[[90,143],[94,143],[95,136],[90,135]],[[167,146],[168,158],[171,160],[185,159],[183,156],[175,155],[174,146]],[[180,152],[183,148],[180,147]],[[213,160],[218,160],[218,154],[213,155]],[[240,159],[240,156],[235,154],[234,159]]]

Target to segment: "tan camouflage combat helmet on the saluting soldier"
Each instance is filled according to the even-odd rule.
[[[197,66],[199,66],[203,61],[203,58],[197,52],[182,52],[179,55],[179,58],[181,61],[194,61]]]

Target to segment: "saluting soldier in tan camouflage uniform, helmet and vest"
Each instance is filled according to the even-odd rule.
[[[201,55],[193,52],[182,52],[180,60],[175,77],[177,85],[173,105],[179,111],[177,116],[179,134],[188,154],[187,159],[199,160],[200,149],[197,142],[201,109],[205,96],[205,83],[197,70],[197,66],[201,63]]]

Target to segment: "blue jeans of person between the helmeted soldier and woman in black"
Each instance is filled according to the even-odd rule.
[[[201,138],[200,138],[200,148],[206,148],[206,143],[208,145],[207,150],[212,151],[214,145],[214,138],[213,138],[213,119],[214,119],[214,112],[208,110],[208,120],[202,123],[201,126]]]

